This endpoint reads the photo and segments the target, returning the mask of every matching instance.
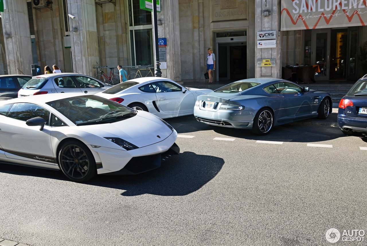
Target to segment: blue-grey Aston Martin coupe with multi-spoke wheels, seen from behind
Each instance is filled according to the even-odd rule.
[[[239,80],[200,95],[194,107],[199,122],[268,134],[273,126],[318,117],[332,111],[331,95],[274,78]]]

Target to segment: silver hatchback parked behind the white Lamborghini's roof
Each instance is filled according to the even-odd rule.
[[[50,93],[95,94],[112,87],[80,73],[51,73],[32,77],[18,91],[18,97]]]

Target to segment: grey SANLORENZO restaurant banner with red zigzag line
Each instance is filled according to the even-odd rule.
[[[366,0],[282,0],[281,30],[365,26]]]

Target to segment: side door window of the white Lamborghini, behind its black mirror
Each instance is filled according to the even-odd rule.
[[[26,102],[15,103],[8,113],[8,117],[22,121],[27,121],[38,116],[46,120],[46,126],[48,126],[50,111],[36,104]]]

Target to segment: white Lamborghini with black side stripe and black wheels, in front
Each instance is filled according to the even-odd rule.
[[[61,169],[76,182],[155,169],[179,153],[176,138],[159,117],[96,95],[0,102],[0,163]]]

